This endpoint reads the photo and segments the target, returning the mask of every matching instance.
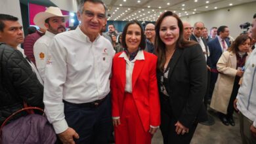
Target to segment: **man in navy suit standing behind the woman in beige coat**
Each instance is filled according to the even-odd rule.
[[[209,41],[208,46],[209,46],[209,60],[210,60],[210,65],[211,67],[211,82],[210,82],[210,87],[209,87],[209,98],[211,98],[215,86],[215,82],[217,81],[218,77],[218,71],[216,64],[221,57],[221,54],[223,54],[224,51],[230,47],[230,41],[228,39],[229,35],[229,29],[227,26],[220,26],[217,29],[217,37],[213,39],[212,41]]]

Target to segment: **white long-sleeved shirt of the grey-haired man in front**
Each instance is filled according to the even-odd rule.
[[[110,73],[115,50],[110,41],[98,35],[91,42],[79,27],[53,38],[45,67],[43,102],[56,134],[68,124],[62,99],[89,103],[110,92]]]

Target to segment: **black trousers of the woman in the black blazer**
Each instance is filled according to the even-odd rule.
[[[160,96],[161,101],[161,134],[163,135],[163,143],[164,144],[189,144],[194,132],[196,130],[196,126],[198,123],[193,124],[189,127],[189,132],[184,135],[177,135],[175,132],[177,118],[173,116],[173,112],[171,110],[171,105],[169,104],[169,99],[163,98]]]

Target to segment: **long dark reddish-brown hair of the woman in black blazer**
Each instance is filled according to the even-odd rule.
[[[178,21],[179,26],[179,38],[177,40],[176,46],[177,48],[186,48],[188,46],[196,45],[195,41],[186,41],[183,37],[183,24],[179,16],[177,14],[167,11],[160,15],[158,21],[156,22],[156,39],[155,39],[155,51],[158,56],[158,66],[157,69],[163,72],[163,66],[165,65],[165,44],[160,39],[160,26],[163,19],[167,16],[173,16]]]

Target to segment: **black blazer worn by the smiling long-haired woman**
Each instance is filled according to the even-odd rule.
[[[160,86],[161,72],[157,74]],[[201,46],[177,48],[169,62],[166,89],[174,118],[187,128],[207,120],[203,105],[206,86],[207,67]]]

